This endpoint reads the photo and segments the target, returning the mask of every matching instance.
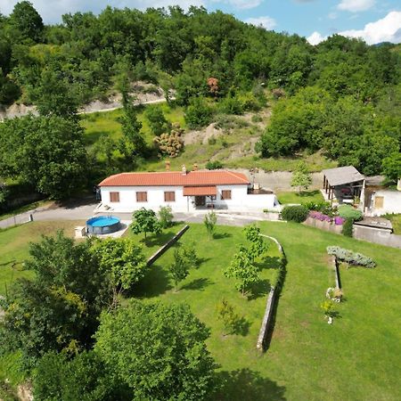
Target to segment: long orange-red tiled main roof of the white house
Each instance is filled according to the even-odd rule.
[[[226,170],[160,173],[120,173],[105,178],[100,186],[210,186],[250,184],[246,176]]]

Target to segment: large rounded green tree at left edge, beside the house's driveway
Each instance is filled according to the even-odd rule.
[[[0,169],[53,199],[67,198],[86,181],[82,128],[55,116],[6,120],[0,125]]]

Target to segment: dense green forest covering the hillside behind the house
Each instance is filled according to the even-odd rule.
[[[107,7],[45,25],[23,1],[0,15],[0,69],[0,104],[35,104],[39,112],[0,127],[1,175],[56,199],[110,171],[137,168],[160,153],[160,138],[166,146],[176,140],[180,128],[166,124],[159,110],[149,116],[155,145],[144,143],[130,96],[135,81],[163,89],[168,102],[184,108],[188,127],[205,127],[217,114],[258,111],[270,96],[273,116],[256,145],[262,157],[322,151],[367,175],[399,174],[400,45],[334,35],[313,46],[203,7]],[[84,168],[78,108],[113,91],[123,97],[124,138],[103,148],[124,162],[92,160]],[[32,156],[28,166],[27,154],[45,156]]]

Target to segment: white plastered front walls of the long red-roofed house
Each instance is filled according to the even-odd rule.
[[[221,193],[231,191],[231,200],[222,200]],[[175,202],[165,202],[164,192],[176,192]],[[119,192],[119,202],[110,202],[110,192]],[[137,202],[136,192],[147,192],[147,202]],[[194,197],[184,196],[182,186],[107,186],[101,188],[102,204],[108,205],[116,212],[132,212],[137,209],[160,209],[170,206],[173,211],[194,211]],[[209,203],[209,198],[206,198]],[[217,185],[217,199],[213,201],[216,209],[234,211],[263,211],[273,209],[277,203],[274,194],[248,194],[248,185]]]

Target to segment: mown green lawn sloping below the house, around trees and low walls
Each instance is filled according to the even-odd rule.
[[[32,223],[0,232],[1,263],[5,257],[26,256],[26,241],[38,238],[39,226]],[[222,274],[238,244],[245,241],[240,227],[218,226],[216,239],[209,241],[203,225],[191,225],[177,246],[194,243],[201,266],[193,269],[175,292],[168,277],[174,251],[168,250],[135,291],[135,296],[146,302],[185,302],[209,326],[208,347],[220,365],[220,379],[225,381],[225,389],[211,398],[400,399],[401,251],[304,225],[263,222],[259,226],[262,233],[282,243],[288,258],[274,332],[265,354],[258,353],[256,342],[278,253],[270,244],[269,258],[261,271],[262,285],[254,297],[243,298],[234,290],[233,280]],[[146,254],[179,228],[172,227],[164,238],[150,236]],[[42,226],[42,230],[50,233],[54,226]],[[326,289],[334,284],[325,250],[328,245],[362,252],[377,263],[375,269],[341,270],[345,300],[337,307],[340,317],[332,325],[326,323],[320,308]],[[243,330],[238,334],[222,334],[216,306],[223,297],[243,317]]]

